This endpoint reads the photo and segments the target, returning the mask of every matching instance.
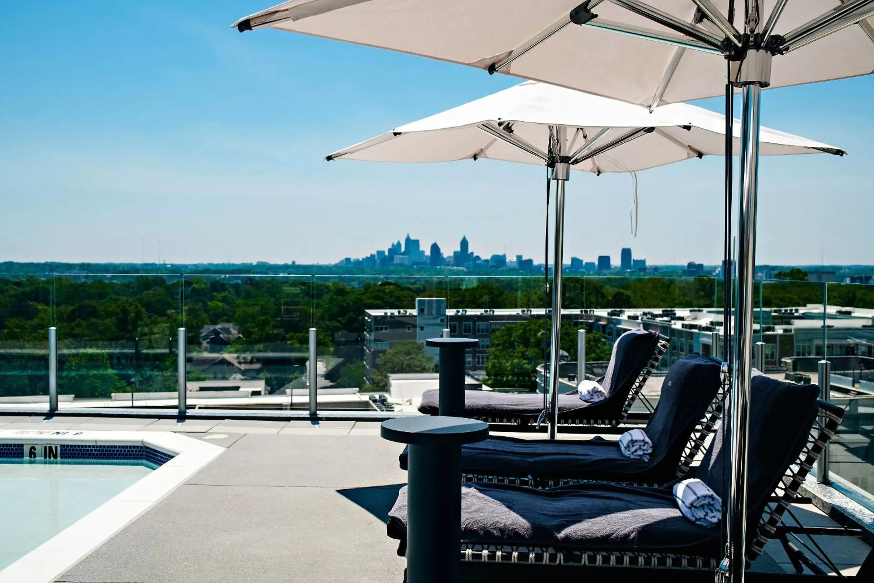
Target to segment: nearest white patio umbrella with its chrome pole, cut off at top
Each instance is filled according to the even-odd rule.
[[[744,579],[746,548],[760,91],[874,72],[874,0],[738,4],[739,10],[735,0],[292,0],[234,24],[239,31],[269,26],[419,54],[650,108],[742,88],[735,430],[729,552],[720,566],[735,582]],[[730,196],[727,189],[726,203]]]

